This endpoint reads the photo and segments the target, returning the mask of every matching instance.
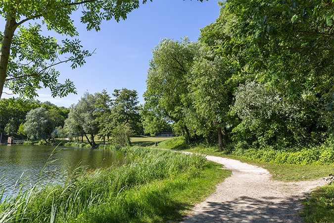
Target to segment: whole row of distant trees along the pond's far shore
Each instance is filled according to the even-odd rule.
[[[4,120],[1,131],[6,136],[26,137],[39,140],[41,144],[65,137],[83,142],[85,137],[90,146],[95,147],[97,135],[103,142],[129,145],[130,136],[143,133],[137,91],[116,89],[112,97],[105,90],[94,95],[86,92],[70,108],[36,100],[12,107],[15,99],[1,99],[0,112]]]

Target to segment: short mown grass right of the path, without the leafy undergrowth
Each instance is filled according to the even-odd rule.
[[[177,142],[177,143],[175,143]],[[174,144],[174,145],[173,145]],[[267,169],[273,179],[281,181],[312,180],[334,173],[334,165],[287,165],[246,159],[221,152],[218,146],[203,145],[187,146],[184,140],[167,140],[159,143],[160,148],[177,148],[192,153],[206,154],[218,157],[231,158],[244,163]],[[303,200],[303,209],[300,213],[306,223],[333,223],[334,222],[334,183],[314,190],[309,199]]]

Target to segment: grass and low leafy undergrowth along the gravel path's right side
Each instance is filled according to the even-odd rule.
[[[273,151],[257,150],[221,152],[218,146],[187,145],[182,137],[158,144],[158,148],[182,150],[239,160],[244,163],[266,168],[273,179],[281,181],[312,180],[334,173],[333,145],[323,145],[309,150]],[[238,155],[236,155],[238,154]],[[322,164],[322,165],[321,165]],[[326,164],[326,165],[324,165]],[[334,183],[317,188],[311,198],[302,202],[301,215],[307,223],[334,222]]]

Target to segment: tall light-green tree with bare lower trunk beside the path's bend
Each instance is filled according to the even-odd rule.
[[[223,151],[228,141],[228,114],[235,87],[230,80],[232,67],[222,57],[214,56],[205,44],[202,44],[199,52],[194,58],[189,78],[192,107],[188,109],[187,116],[196,134],[202,134],[209,141],[215,129]]]

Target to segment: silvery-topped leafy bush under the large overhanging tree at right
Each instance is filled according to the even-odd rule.
[[[235,93],[233,112],[241,122],[232,130],[233,140],[249,145],[288,148],[323,142],[319,127],[321,113],[307,102],[289,102],[283,94],[255,81],[240,85]]]

